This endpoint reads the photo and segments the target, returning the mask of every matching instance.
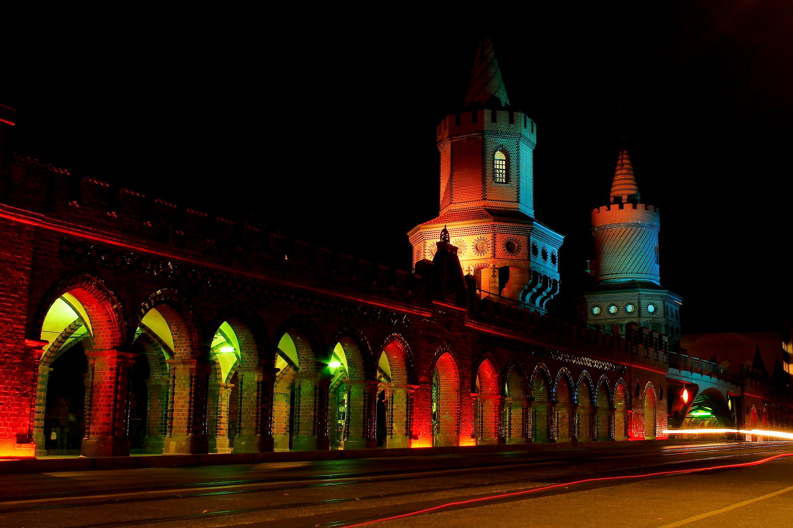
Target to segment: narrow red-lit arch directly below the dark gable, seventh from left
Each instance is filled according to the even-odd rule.
[[[444,352],[435,363],[432,376],[432,445],[458,446],[460,378],[457,363]]]

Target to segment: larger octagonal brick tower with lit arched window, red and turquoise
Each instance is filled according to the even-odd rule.
[[[413,265],[432,260],[441,230],[482,296],[502,296],[546,312],[559,291],[564,237],[534,219],[537,125],[510,106],[496,54],[482,40],[465,107],[438,125],[440,214],[408,232]]]

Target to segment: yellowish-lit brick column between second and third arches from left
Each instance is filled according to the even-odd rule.
[[[164,454],[207,453],[209,365],[196,359],[169,359],[168,416]]]

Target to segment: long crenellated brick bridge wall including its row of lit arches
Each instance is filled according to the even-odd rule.
[[[666,427],[665,336],[481,300],[447,243],[403,272],[4,156],[0,456]]]

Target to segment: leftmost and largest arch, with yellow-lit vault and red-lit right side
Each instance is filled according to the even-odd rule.
[[[36,385],[36,454],[129,454],[132,354],[118,350],[124,341],[118,302],[86,275],[59,291],[40,320],[46,345]]]

